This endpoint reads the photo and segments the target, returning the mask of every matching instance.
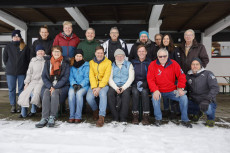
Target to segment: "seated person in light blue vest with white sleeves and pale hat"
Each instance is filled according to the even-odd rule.
[[[131,84],[134,80],[133,66],[125,60],[125,52],[117,49],[114,52],[115,61],[109,78],[108,104],[114,123],[127,124]]]

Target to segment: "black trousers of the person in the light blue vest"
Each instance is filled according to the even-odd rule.
[[[109,105],[109,108],[110,108],[110,111],[112,113],[114,121],[119,121],[119,119],[120,119],[121,122],[127,122],[127,116],[128,116],[128,112],[129,112],[130,92],[131,92],[131,89],[127,88],[121,94],[121,101],[122,101],[121,102],[121,109],[118,112],[116,110],[117,92],[112,87],[109,88],[108,105]]]

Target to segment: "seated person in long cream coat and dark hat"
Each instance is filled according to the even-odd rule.
[[[43,86],[42,71],[45,64],[43,56],[45,55],[45,49],[42,45],[36,46],[36,57],[33,57],[30,61],[29,68],[27,70],[26,79],[24,80],[24,90],[18,97],[18,105],[21,106],[22,117],[31,117],[36,114],[36,106],[41,107],[41,89]],[[30,101],[31,98],[31,101]],[[32,104],[31,111],[27,114],[27,108],[29,103]]]

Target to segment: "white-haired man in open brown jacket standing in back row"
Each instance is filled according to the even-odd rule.
[[[190,70],[191,61],[193,58],[198,57],[202,66],[205,68],[209,62],[208,54],[203,44],[200,44],[195,39],[195,32],[188,29],[184,33],[185,41],[180,45],[181,52],[181,68],[187,73]]]

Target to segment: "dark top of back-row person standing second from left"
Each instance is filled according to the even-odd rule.
[[[53,46],[53,39],[48,38],[47,40],[42,40],[42,38],[38,38],[34,41],[31,49],[30,58],[33,58],[36,56],[36,46],[40,44],[45,48],[46,55],[51,55],[51,48]]]

